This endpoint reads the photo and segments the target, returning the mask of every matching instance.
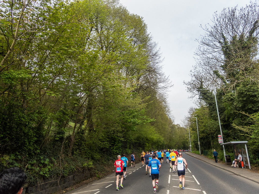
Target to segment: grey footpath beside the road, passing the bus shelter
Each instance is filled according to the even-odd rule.
[[[190,152],[185,152],[185,154],[187,154],[187,155],[189,155],[193,158],[196,158],[198,160],[202,160],[202,161],[204,161],[204,162],[206,162],[206,163],[208,163],[212,166],[221,168],[221,169],[226,170],[230,173],[241,176],[243,178],[246,178],[250,181],[253,181],[253,182],[256,182],[256,183],[259,184],[259,173],[250,172],[249,167],[247,167],[247,168],[232,168],[231,164],[227,165],[225,163],[219,163],[219,162],[216,163],[215,160],[208,159],[205,156],[201,156],[201,155],[190,153]]]

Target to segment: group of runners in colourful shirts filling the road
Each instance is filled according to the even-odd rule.
[[[178,150],[180,151],[180,150]],[[144,166],[144,163],[146,165],[146,175],[149,173],[149,177],[152,179],[152,185],[154,189],[154,193],[156,193],[158,189],[158,182],[159,182],[159,171],[161,168],[161,163],[163,164],[164,155],[166,156],[166,163],[170,164],[170,168],[174,170],[174,173],[177,172],[179,176],[179,187],[182,189],[184,188],[184,182],[185,182],[185,168],[187,169],[187,163],[184,158],[182,158],[182,152],[178,152],[177,150],[159,150],[156,152],[144,152],[141,153],[141,162],[142,166]],[[188,150],[183,150],[188,151]],[[120,155],[117,156],[118,160],[114,162],[114,167],[116,167],[116,190],[119,190],[118,184],[119,184],[119,176],[120,179],[120,188],[123,189],[122,182],[123,180],[126,180],[126,171],[127,171],[127,165],[128,165],[128,159],[125,157],[125,154],[123,154],[123,157],[121,158]],[[135,167],[135,155],[131,154],[131,168]],[[177,166],[177,169],[176,169]],[[124,171],[124,173],[123,173]]]

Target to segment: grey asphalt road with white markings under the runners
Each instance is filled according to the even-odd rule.
[[[185,170],[185,189],[178,187],[179,177],[177,173],[174,174],[170,170],[169,164],[164,162],[160,169],[157,193],[259,193],[259,184],[253,181],[236,176],[228,171],[192,158],[187,154],[183,154],[183,158],[186,159],[188,164],[188,169]],[[151,177],[149,177],[149,174],[146,175],[145,172],[145,167],[141,167],[141,163],[138,163],[135,168],[127,167],[126,180],[122,183],[124,189],[119,188],[119,191],[116,191],[116,177],[115,173],[113,173],[81,190],[73,192],[73,194],[154,193]]]

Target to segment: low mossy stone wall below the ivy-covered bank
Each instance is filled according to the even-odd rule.
[[[22,194],[50,194],[73,186],[88,178],[90,178],[90,172],[87,169],[71,172],[66,177],[55,175],[46,179],[42,178],[35,186],[26,187],[25,184]]]

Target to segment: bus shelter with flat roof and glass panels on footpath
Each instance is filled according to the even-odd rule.
[[[244,167],[249,166],[249,169],[251,169],[246,143],[247,141],[231,141],[220,145],[232,145],[234,154],[236,155],[240,152],[242,155]]]

